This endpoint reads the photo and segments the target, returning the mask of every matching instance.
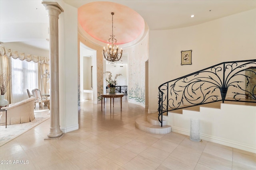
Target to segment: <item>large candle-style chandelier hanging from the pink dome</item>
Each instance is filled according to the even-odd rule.
[[[113,16],[114,12],[111,12],[112,15],[112,35],[110,35],[110,39],[108,39],[108,42],[111,44],[108,44],[107,48],[104,47],[102,54],[104,55],[104,60],[109,61],[111,64],[114,64],[114,62],[117,62],[122,57],[122,48],[119,51],[118,45],[116,45],[117,40],[115,39],[115,35],[113,35]]]

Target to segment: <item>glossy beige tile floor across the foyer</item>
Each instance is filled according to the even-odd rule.
[[[44,140],[50,119],[0,147],[1,170],[255,170],[256,154],[178,133],[156,135],[135,128],[147,109],[115,99],[81,102],[79,129]],[[8,164],[9,163],[9,164]]]

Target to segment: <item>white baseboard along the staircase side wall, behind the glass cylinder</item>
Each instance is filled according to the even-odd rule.
[[[176,132],[176,133],[180,133],[180,134],[183,134],[183,135],[190,136],[190,131],[187,131],[186,129],[180,129],[180,128],[177,128],[177,127],[173,127],[173,126],[172,126],[172,132]],[[237,143],[237,142],[234,142],[234,141],[228,141],[226,139],[221,139],[221,138],[218,138],[218,137],[204,135],[204,134],[201,134],[201,133],[200,133],[200,138],[202,140],[205,140],[205,141],[210,141],[210,142],[218,143],[218,144],[225,145],[225,146],[228,146],[228,147],[232,147],[232,148],[246,150],[248,152],[256,153],[256,148],[255,147],[244,145],[242,143]]]

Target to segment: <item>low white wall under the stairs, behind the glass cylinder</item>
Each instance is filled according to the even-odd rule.
[[[256,107],[221,104],[220,109],[200,107],[164,116],[172,131],[190,136],[190,119],[200,120],[200,139],[256,153]],[[244,116],[246,114],[246,116]]]

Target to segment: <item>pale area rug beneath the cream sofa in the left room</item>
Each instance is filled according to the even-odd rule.
[[[27,132],[28,130],[32,129],[33,127],[36,127],[40,123],[46,121],[47,119],[50,119],[50,115],[41,115],[42,117],[36,117],[31,122],[27,123],[20,123],[20,124],[14,124],[14,125],[7,125],[7,128],[5,128],[5,125],[0,126],[0,147],[9,141],[15,139],[16,137],[22,135],[23,133]]]

